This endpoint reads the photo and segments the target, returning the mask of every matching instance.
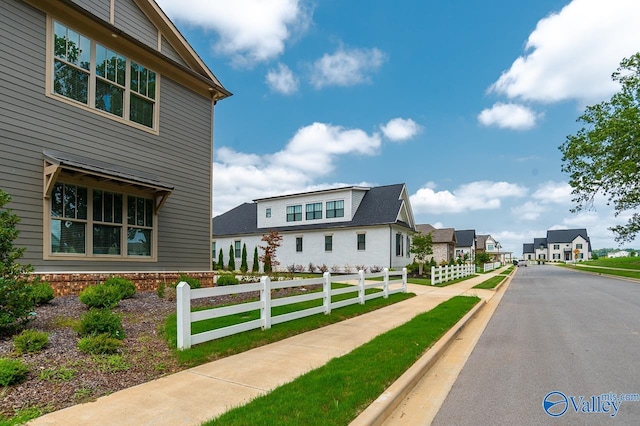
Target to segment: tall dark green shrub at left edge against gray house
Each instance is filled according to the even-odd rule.
[[[33,270],[31,265],[22,265],[18,259],[25,248],[14,247],[18,238],[17,214],[5,205],[11,196],[0,189],[0,334],[15,331],[26,323],[35,307],[26,275]]]

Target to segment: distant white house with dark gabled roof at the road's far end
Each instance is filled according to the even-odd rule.
[[[588,260],[591,259],[591,241],[585,228],[549,230],[546,238],[534,239],[531,247],[523,245],[523,257],[556,262]]]

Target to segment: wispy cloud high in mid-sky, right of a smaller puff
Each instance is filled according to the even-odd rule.
[[[339,48],[325,54],[312,67],[311,84],[320,89],[325,86],[353,86],[370,81],[369,75],[382,66],[385,54],[379,49]]]

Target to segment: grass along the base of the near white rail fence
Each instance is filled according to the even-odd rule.
[[[332,283],[332,288],[343,286],[345,285]],[[366,293],[371,293],[374,291],[380,290],[368,289]],[[380,309],[385,306],[410,299],[414,296],[415,294],[413,293],[395,293],[390,295],[387,299],[378,297],[375,299],[367,300],[364,305],[356,303],[353,305],[344,306],[339,309],[334,309],[329,315],[312,315],[309,317],[300,318],[295,321],[275,324],[268,330],[250,330],[244,333],[234,334],[232,336],[223,337],[221,339],[204,342],[184,351],[179,351],[176,349],[175,356],[180,365],[184,367],[194,367],[196,365],[204,364],[205,362],[215,361],[216,359],[231,356],[240,352],[247,351],[249,349],[257,348],[259,346],[286,339],[287,337],[295,336],[297,334],[315,330],[329,324],[344,321],[348,318],[362,315],[367,312],[371,312],[376,309]],[[351,297],[355,297],[354,293],[332,296],[331,300],[333,302],[336,302],[338,300]],[[318,306],[319,304],[322,304],[322,300],[313,300],[304,303],[296,303],[293,305],[278,306],[273,308],[273,315],[281,315],[288,312],[307,309],[313,306]],[[193,334],[200,333],[206,330],[226,327],[228,325],[240,324],[257,318],[260,318],[260,312],[251,311],[243,312],[236,315],[229,315],[222,318],[214,318],[207,321],[198,321],[192,324],[191,332]],[[164,337],[169,347],[175,348],[177,346],[176,314],[171,314],[165,319]]]

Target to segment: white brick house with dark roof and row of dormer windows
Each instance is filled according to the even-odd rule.
[[[356,266],[402,268],[411,263],[415,233],[413,210],[404,184],[350,186],[260,198],[213,218],[214,261],[222,249],[225,266],[233,247],[236,269],[247,247],[251,269],[254,250],[265,246],[271,230],[282,235],[276,251],[279,270],[290,265],[326,265],[355,272]],[[260,270],[262,271],[262,263]]]

